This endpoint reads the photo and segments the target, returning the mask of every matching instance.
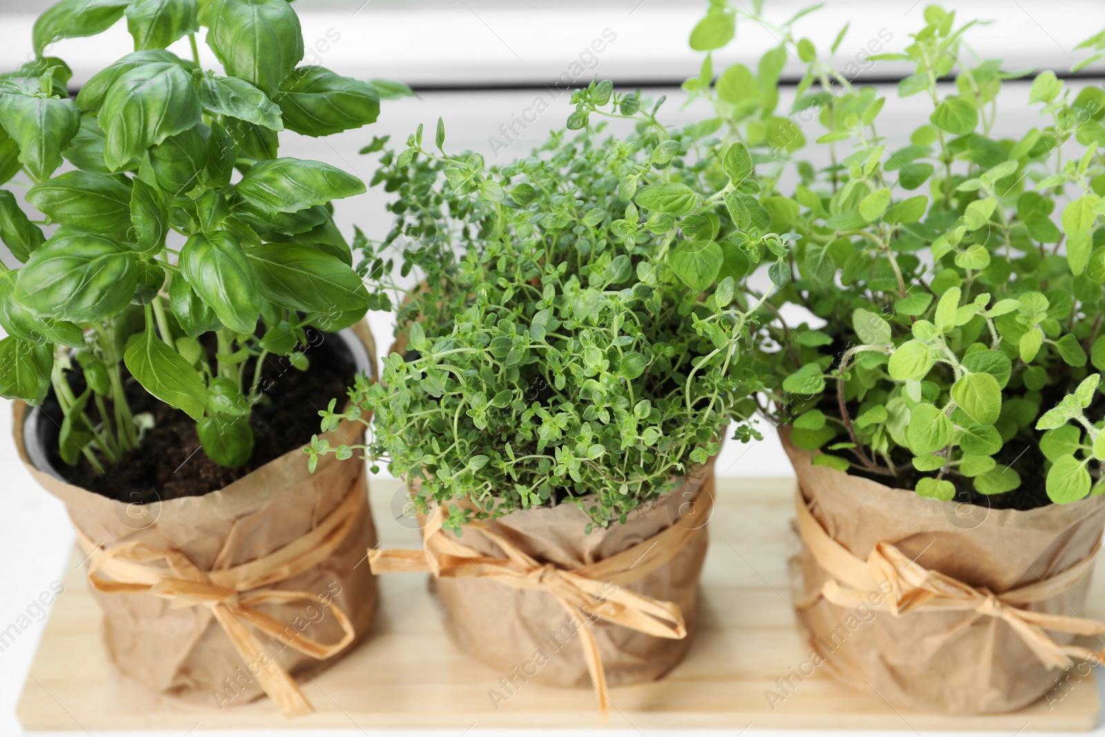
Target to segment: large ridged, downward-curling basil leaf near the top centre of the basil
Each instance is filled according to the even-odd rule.
[[[152,63],[123,74],[107,91],[99,112],[106,135],[104,162],[112,171],[201,118],[192,77],[179,64]]]

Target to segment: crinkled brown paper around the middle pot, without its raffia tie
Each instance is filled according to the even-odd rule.
[[[513,512],[488,527],[535,559],[571,569],[604,560],[666,529],[680,519],[682,505],[699,493],[713,494],[713,486],[711,461],[678,488],[633,510],[624,525],[590,535],[585,533],[587,515],[573,504]],[[465,529],[463,541],[483,554],[502,555],[480,530]],[[653,599],[678,604],[686,620],[686,638],[655,638],[602,620],[590,624],[609,685],[655,681],[686,653],[695,632],[695,594],[707,543],[703,529],[667,565],[627,585]],[[436,586],[449,633],[476,660],[508,680],[516,677],[512,671],[517,667],[529,680],[546,685],[590,685],[579,635],[552,594],[496,586],[483,578],[441,578]],[[544,657],[535,657],[538,652]],[[530,676],[535,667],[537,675]]]

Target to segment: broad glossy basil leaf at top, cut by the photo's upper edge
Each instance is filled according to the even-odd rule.
[[[211,0],[208,45],[230,76],[272,96],[303,59],[303,30],[285,0]]]

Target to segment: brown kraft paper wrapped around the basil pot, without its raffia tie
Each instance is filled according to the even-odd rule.
[[[360,325],[356,331],[375,366],[375,346],[367,326]],[[139,540],[159,549],[178,549],[203,570],[229,568],[267,555],[309,531],[347,494],[368,493],[362,464],[338,462],[327,455],[311,474],[306,455],[297,448],[222,489],[147,505],[141,510],[145,514],[136,518],[136,510],[122,502],[34,468],[23,442],[27,411],[24,403],[14,403],[20,457],[31,475],[65,503],[73,522],[93,543],[110,546]],[[343,422],[338,430],[323,436],[330,438],[332,443],[352,442],[361,427]],[[152,524],[150,519],[155,519]],[[333,597],[333,604],[346,612],[360,640],[371,625],[377,591],[369,567],[357,564],[376,541],[366,502],[333,556],[269,588]],[[263,695],[209,608],[170,609],[169,601],[146,592],[92,593],[104,610],[108,655],[124,675],[141,687],[211,706],[245,704]],[[263,604],[259,609],[323,642],[336,642],[343,634],[335,617],[311,602]],[[293,676],[317,673],[338,660],[317,661],[283,646],[278,640],[255,634]],[[350,644],[344,653],[352,647]]]

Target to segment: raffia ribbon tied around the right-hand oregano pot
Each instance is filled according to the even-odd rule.
[[[820,596],[834,604],[855,607],[865,602],[870,606],[870,594],[882,592],[888,596],[883,598],[881,607],[886,608],[894,617],[915,611],[974,611],[979,617],[1000,619],[1021,636],[1024,644],[1049,668],[1071,667],[1072,657],[1094,663],[1099,663],[1105,657],[1105,653],[1088,647],[1060,645],[1045,632],[1105,634],[1105,623],[1025,609],[1033,602],[1057,597],[1082,580],[1093,568],[1102,545],[1099,539],[1086,558],[1063,572],[1003,593],[994,593],[986,587],[972,587],[939,571],[928,570],[911,560],[891,543],[878,543],[867,559],[862,560],[825,531],[807,507],[800,491],[796,495],[794,505],[802,540],[821,568],[831,576]]]

